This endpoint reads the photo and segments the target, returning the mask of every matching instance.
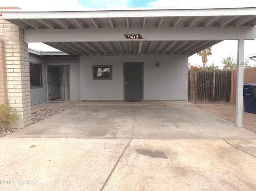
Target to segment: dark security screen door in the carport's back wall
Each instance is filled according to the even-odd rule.
[[[143,63],[124,63],[124,100],[142,101]]]

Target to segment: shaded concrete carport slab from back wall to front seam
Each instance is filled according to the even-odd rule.
[[[98,104],[98,105],[96,105]],[[9,137],[256,139],[189,102],[78,103]],[[47,104],[48,106],[48,104]]]

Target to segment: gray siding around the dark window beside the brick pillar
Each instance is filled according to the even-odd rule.
[[[34,54],[29,54],[29,61],[42,64],[42,84],[40,88],[30,88],[31,105],[47,102],[47,78],[46,65],[40,57]]]

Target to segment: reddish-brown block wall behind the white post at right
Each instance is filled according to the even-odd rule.
[[[230,102],[236,103],[236,69],[232,69],[231,74],[231,95]],[[244,69],[244,84],[256,83],[256,67]]]

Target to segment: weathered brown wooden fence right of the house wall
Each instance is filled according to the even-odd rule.
[[[192,103],[229,103],[231,71],[189,71],[188,101]]]

